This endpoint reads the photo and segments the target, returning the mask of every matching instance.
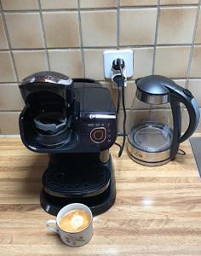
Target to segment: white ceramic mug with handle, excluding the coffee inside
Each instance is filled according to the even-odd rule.
[[[72,210],[83,210],[85,212],[88,212],[90,222],[89,225],[80,232],[66,232],[64,230],[60,229],[60,219],[67,213]],[[46,223],[46,227],[54,231],[55,233],[59,234],[60,239],[68,246],[71,247],[81,247],[84,244],[88,243],[91,237],[93,236],[93,215],[89,207],[83,205],[83,204],[70,204],[66,207],[63,207],[60,209],[60,212],[58,212],[57,217],[55,220],[48,220]]]

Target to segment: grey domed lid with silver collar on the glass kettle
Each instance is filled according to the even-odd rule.
[[[136,96],[141,102],[148,104],[164,104],[169,102],[169,90],[165,84],[171,80],[158,75],[136,79]]]

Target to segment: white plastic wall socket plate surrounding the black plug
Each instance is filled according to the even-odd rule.
[[[112,77],[112,61],[121,58],[125,62],[126,76],[131,78],[134,71],[134,57],[132,49],[108,49],[103,52],[104,74],[106,79]]]

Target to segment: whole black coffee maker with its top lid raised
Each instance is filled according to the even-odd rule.
[[[43,209],[56,215],[79,202],[94,214],[105,212],[116,197],[109,148],[117,137],[117,120],[109,90],[95,80],[41,72],[23,79],[20,92],[26,103],[20,113],[22,142],[49,154]]]

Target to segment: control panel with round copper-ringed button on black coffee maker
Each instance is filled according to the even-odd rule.
[[[83,137],[92,147],[99,145],[101,150],[110,148],[117,137],[115,115],[89,114],[83,121]]]

